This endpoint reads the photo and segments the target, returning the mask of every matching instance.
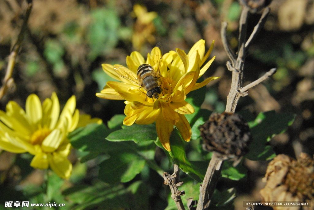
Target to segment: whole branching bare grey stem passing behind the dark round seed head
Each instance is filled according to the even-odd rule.
[[[266,18],[269,13],[269,8],[265,8],[260,18],[259,22],[255,26],[252,34],[250,35],[249,39],[246,40],[246,30],[247,30],[247,17],[249,14],[249,8],[243,7],[240,17],[240,27],[239,27],[239,46],[238,52],[235,54],[230,49],[227,39],[226,39],[226,29],[227,29],[227,22],[222,23],[221,27],[221,37],[222,42],[227,52],[228,57],[230,58],[231,62],[227,62],[228,70],[232,71],[232,82],[231,82],[231,89],[227,98],[227,105],[226,105],[226,112],[234,113],[236,110],[236,105],[238,100],[241,96],[246,96],[248,94],[247,90],[254,87],[255,85],[261,83],[268,77],[272,76],[276,69],[273,68],[268,71],[265,75],[261,78],[257,79],[256,81],[242,87],[242,79],[243,79],[243,67],[246,57],[246,52],[252,40],[256,37],[258,32],[263,27]],[[202,187],[200,189],[200,196],[198,199],[198,206],[196,210],[205,210],[208,208],[210,204],[210,200],[213,196],[214,189],[216,187],[218,178],[220,176],[220,172],[222,169],[223,161],[220,160],[215,153],[213,153],[212,159],[209,162],[208,169],[206,171],[205,178],[203,180]]]

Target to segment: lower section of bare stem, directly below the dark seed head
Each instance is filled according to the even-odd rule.
[[[222,169],[223,161],[214,152],[210,159],[205,178],[199,190],[198,205],[196,210],[205,210],[209,207],[210,200],[214,194],[218,178]]]

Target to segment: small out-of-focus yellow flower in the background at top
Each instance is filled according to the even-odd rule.
[[[155,42],[152,33],[155,31],[153,20],[158,16],[156,12],[147,12],[146,7],[135,4],[133,12],[137,17],[134,24],[134,32],[132,35],[132,44],[136,50],[141,50],[142,45],[147,40],[150,44]]]

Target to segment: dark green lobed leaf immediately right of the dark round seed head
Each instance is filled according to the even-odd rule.
[[[261,112],[254,121],[248,123],[253,141],[250,144],[250,152],[246,158],[250,160],[268,160],[275,155],[266,143],[277,134],[287,130],[295,119],[295,114],[290,112],[276,113],[273,111]]]

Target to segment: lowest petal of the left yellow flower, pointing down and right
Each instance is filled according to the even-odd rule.
[[[48,154],[50,168],[61,178],[68,179],[71,176],[72,164],[67,157],[58,153]]]

